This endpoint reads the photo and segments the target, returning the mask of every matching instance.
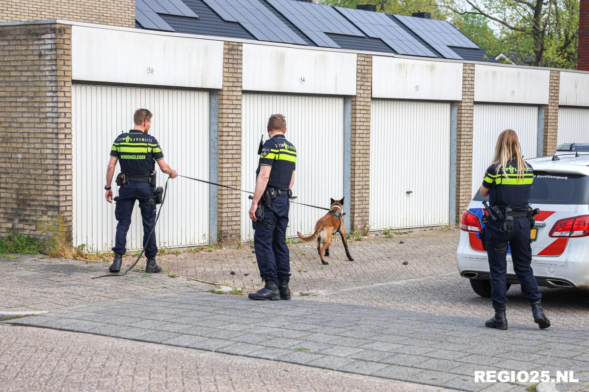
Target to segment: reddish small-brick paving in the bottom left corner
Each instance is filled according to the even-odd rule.
[[[444,388],[183,347],[0,326],[2,391],[373,391]]]

